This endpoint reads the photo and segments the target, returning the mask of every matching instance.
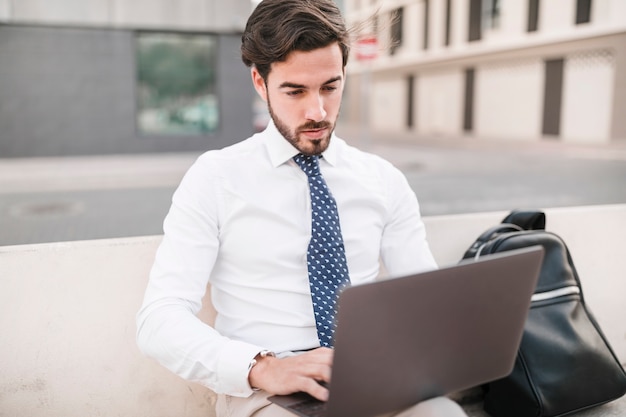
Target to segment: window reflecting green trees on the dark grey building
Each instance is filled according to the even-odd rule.
[[[217,39],[206,34],[139,33],[137,128],[143,135],[205,135],[219,122]]]

